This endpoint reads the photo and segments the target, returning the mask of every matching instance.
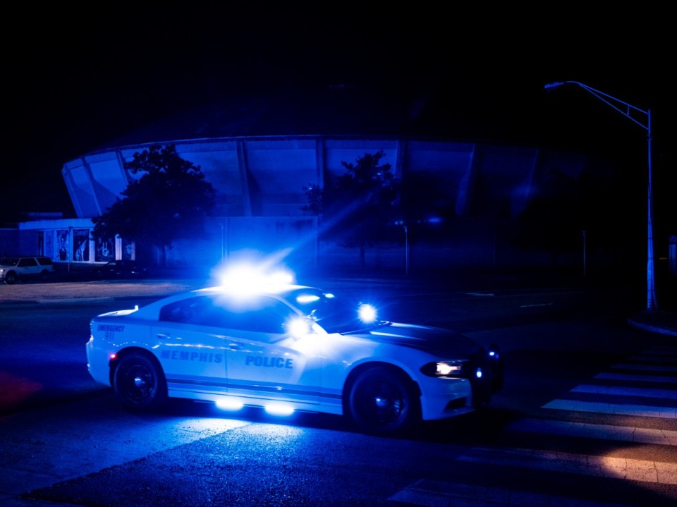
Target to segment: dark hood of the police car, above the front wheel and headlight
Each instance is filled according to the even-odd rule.
[[[350,335],[436,354],[449,353],[470,357],[483,350],[477,342],[456,331],[401,322],[387,322],[382,326]]]

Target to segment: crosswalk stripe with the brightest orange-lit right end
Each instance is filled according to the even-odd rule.
[[[549,472],[611,477],[657,484],[677,484],[677,463],[589,456],[537,449],[491,449],[476,447],[456,458],[460,461],[491,465],[518,466]]]

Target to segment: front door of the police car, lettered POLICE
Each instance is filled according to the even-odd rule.
[[[285,303],[268,297],[221,303],[228,393],[245,398],[319,401],[324,354],[317,334],[293,336],[289,324],[303,319]]]

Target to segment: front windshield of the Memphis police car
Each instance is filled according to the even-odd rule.
[[[353,333],[387,324],[379,320],[365,323],[359,317],[358,304],[350,304],[317,289],[295,291],[291,300],[328,333]]]

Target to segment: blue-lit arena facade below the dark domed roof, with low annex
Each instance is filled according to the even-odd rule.
[[[95,264],[140,255],[142,250],[137,252],[126,238],[94,241],[91,218],[105,212],[135,178],[124,162],[150,144],[154,143],[105,149],[67,161],[61,172],[77,217],[23,222],[20,250],[47,255],[58,263]],[[508,251],[506,235],[511,221],[537,191],[539,179],[552,170],[575,177],[587,164],[580,154],[535,147],[413,138],[269,136],[165,144],[173,144],[180,157],[200,166],[216,189],[207,236],[176,242],[168,252],[169,267],[215,265],[248,250],[283,255],[296,263],[352,264],[357,255],[317,242],[317,221],[302,209],[307,204],[304,188],[310,183],[322,186],[325,178],[345,173],[343,162],[379,151],[384,152],[382,162],[391,164],[404,184],[434,182],[435,198],[456,216],[453,238],[439,238],[434,247],[418,245],[410,262],[423,257],[426,264],[450,259],[480,265],[517,262]],[[402,248],[411,245],[382,245],[371,257],[380,266],[402,267]]]

